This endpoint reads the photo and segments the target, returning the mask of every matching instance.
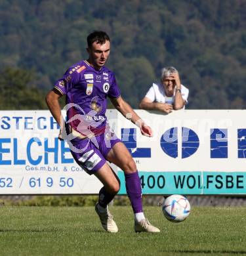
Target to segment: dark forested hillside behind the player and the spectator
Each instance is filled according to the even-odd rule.
[[[109,33],[107,66],[134,108],[163,66],[179,70],[188,109],[245,108],[245,28],[245,0],[1,0],[0,108],[46,108],[93,30]]]

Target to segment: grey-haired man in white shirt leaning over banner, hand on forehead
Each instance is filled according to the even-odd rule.
[[[167,114],[184,109],[189,90],[180,83],[178,70],[165,67],[161,70],[161,83],[153,83],[139,104],[144,110],[159,110]]]

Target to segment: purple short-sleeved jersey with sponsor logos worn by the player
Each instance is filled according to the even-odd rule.
[[[106,127],[107,96],[118,98],[115,75],[106,67],[95,70],[87,60],[71,66],[54,88],[66,95],[70,126],[81,135],[99,135]]]

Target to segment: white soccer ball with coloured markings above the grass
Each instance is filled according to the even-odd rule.
[[[184,221],[190,214],[190,203],[181,195],[166,198],[162,205],[163,215],[173,223]]]

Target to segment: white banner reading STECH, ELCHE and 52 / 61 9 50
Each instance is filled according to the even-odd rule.
[[[96,194],[100,181],[73,160],[45,111],[1,111],[0,194]]]

